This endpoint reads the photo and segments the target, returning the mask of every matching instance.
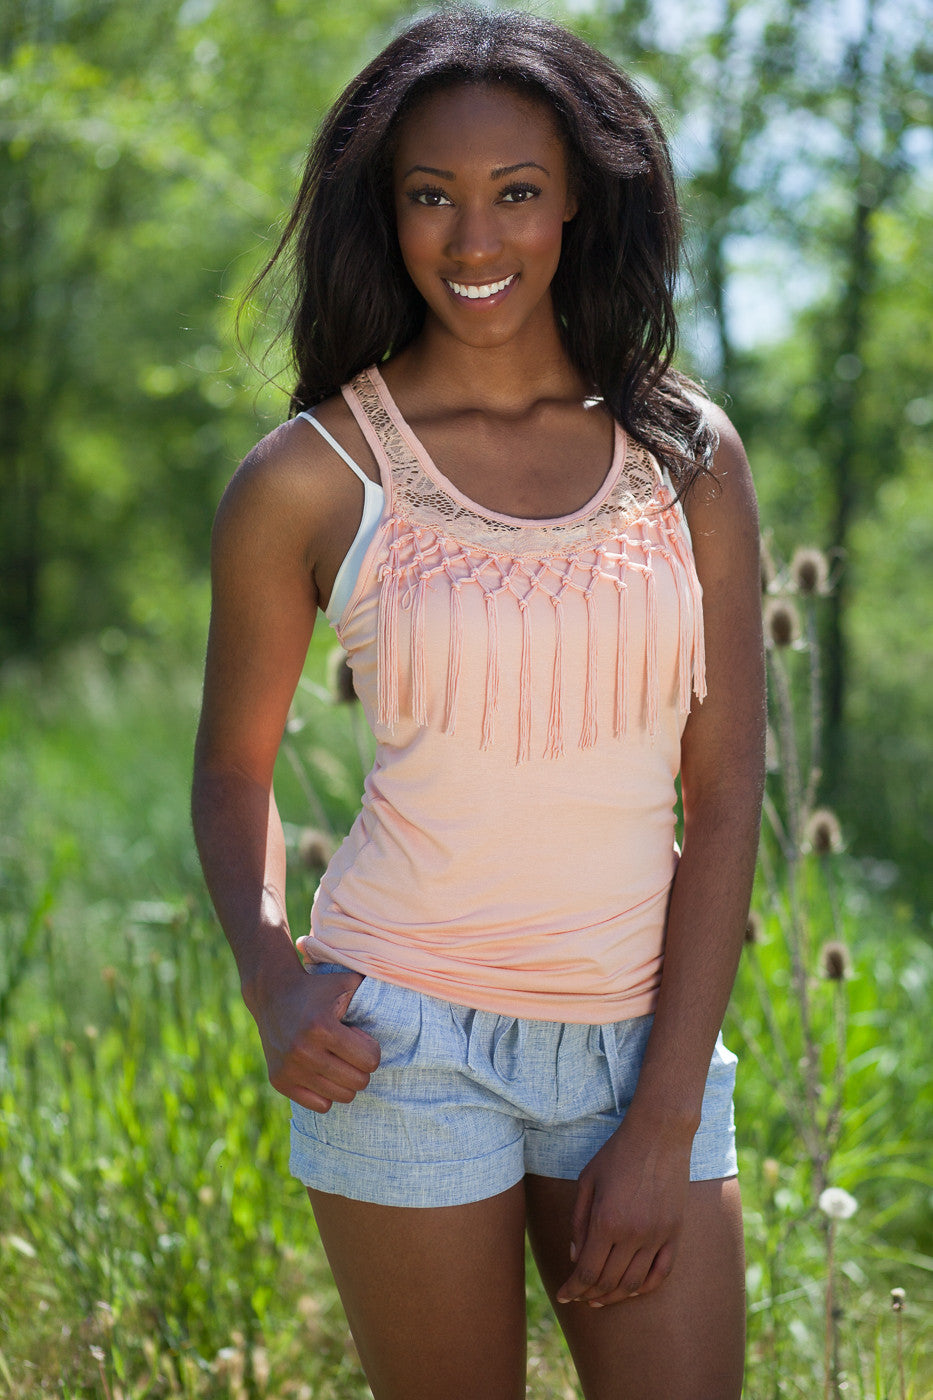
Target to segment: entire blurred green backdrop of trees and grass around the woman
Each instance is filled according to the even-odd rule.
[[[821,773],[790,844],[769,847],[787,869],[762,875],[770,932],[737,994],[735,1035],[763,1077],[744,1091],[748,1393],[811,1394],[824,1365],[825,1394],[845,1390],[836,1217],[822,1233],[814,1217],[842,1179],[864,1219],[846,1264],[849,1365],[876,1376],[848,1393],[930,1394],[929,1365],[932,1389],[916,1369],[905,1389],[899,1309],[899,1389],[894,1333],[885,1350],[873,1331],[898,1268],[926,1280],[927,1306],[933,1277],[929,6],[537,8],[629,67],[667,115],[688,223],[681,364],[748,447],[770,594],[793,592],[801,547],[828,561],[772,666],[822,736]],[[247,316],[251,364],[240,297],[322,111],[413,13],[398,0],[0,6],[0,1385],[13,1394],[252,1397],[266,1393],[269,1337],[273,1373],[297,1373],[298,1324],[322,1369],[276,1393],[364,1393],[336,1302],[319,1301],[319,1250],[308,1263],[289,1243],[307,1205],[282,1196],[284,1126],[200,889],[186,785],[213,511],[290,388],[273,344],[283,305]],[[321,703],[331,645],[321,627],[283,756],[280,805],[305,857],[298,931],[317,860],[301,826],[324,847],[339,837],[368,753],[359,713]],[[838,813],[842,874],[818,843],[806,855],[814,804]],[[838,855],[835,827],[824,837]],[[831,1000],[815,1011],[807,998],[824,993],[782,941],[806,923],[803,890],[807,966],[827,937],[856,960],[846,990],[849,953],[824,959]],[[787,1075],[801,1057],[807,1081],[783,1107],[768,1086],[782,1035]],[[539,1298],[532,1393],[572,1396],[545,1315]]]

